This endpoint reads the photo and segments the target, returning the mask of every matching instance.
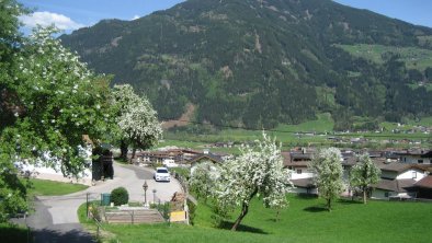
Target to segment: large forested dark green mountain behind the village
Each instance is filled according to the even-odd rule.
[[[330,112],[360,129],[432,115],[432,30],[330,0],[189,0],[60,38],[162,119],[192,106],[197,121],[271,128]]]

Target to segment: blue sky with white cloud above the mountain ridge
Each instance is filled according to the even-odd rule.
[[[70,33],[104,19],[134,20],[169,9],[183,0],[18,0],[34,13],[22,16],[25,28],[55,23]],[[334,0],[409,23],[432,27],[432,0]]]

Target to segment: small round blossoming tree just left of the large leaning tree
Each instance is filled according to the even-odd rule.
[[[191,177],[187,183],[191,190],[206,201],[207,198],[213,196],[213,189],[216,187],[219,176],[218,165],[211,161],[203,161],[191,169]]]

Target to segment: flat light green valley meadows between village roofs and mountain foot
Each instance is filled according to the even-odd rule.
[[[354,117],[354,123],[362,123],[364,118]],[[334,146],[328,137],[340,137],[340,138],[367,138],[372,141],[372,146],[391,146],[380,144],[383,140],[431,140],[432,135],[422,134],[420,131],[409,134],[408,131],[413,129],[416,126],[432,127],[432,117],[424,117],[420,120],[408,120],[406,125],[398,126],[397,123],[384,121],[379,124],[385,130],[380,134],[374,131],[370,132],[351,132],[341,134],[333,131],[334,120],[329,113],[322,113],[317,116],[317,119],[305,121],[298,125],[278,125],[276,128],[266,130],[265,132],[272,137],[275,137],[277,141],[282,142],[283,149],[287,150],[298,146]],[[399,134],[394,134],[391,130],[398,129]],[[316,135],[312,135],[312,134]],[[190,134],[185,131],[171,132],[166,131],[166,140],[159,143],[159,147],[177,146],[180,148],[192,148],[202,150],[206,144],[214,142],[227,142],[227,141],[253,141],[261,139],[261,130],[248,130],[248,129],[234,129],[227,128],[216,130],[208,134]],[[430,141],[429,143],[430,144]],[[425,146],[427,146],[425,144]],[[350,144],[346,144],[350,146]],[[409,144],[394,144],[407,147]],[[238,153],[237,148],[212,148],[213,152],[226,152],[226,153]]]

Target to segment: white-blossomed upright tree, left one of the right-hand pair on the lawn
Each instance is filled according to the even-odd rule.
[[[341,151],[337,148],[328,148],[319,150],[309,164],[318,194],[326,199],[329,211],[331,211],[331,202],[343,192],[341,161]]]

